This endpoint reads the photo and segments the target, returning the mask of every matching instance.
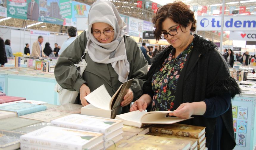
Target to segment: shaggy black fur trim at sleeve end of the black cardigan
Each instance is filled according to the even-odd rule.
[[[214,82],[211,87],[208,88],[209,93],[207,97],[218,96],[224,93],[230,93],[231,98],[235,97],[237,94],[241,94],[241,89],[234,78],[227,77],[225,79],[218,80]]]

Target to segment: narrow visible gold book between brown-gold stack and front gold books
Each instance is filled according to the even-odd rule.
[[[160,134],[160,133],[149,133],[149,135],[159,136],[159,137],[168,137],[168,138],[175,138],[175,139],[182,139],[187,140],[190,142],[191,149],[197,149],[197,139],[191,138],[191,137],[181,137],[181,136],[175,136],[175,135],[167,135],[167,134]]]

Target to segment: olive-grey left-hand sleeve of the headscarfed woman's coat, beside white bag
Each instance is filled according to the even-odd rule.
[[[87,39],[84,31],[63,51],[55,65],[55,79],[64,89],[79,92],[81,85],[86,83],[74,65],[81,60],[86,43]]]

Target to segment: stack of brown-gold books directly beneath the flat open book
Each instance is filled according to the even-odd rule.
[[[197,139],[197,146],[192,147],[192,150],[204,150],[206,144],[205,127],[192,126],[185,124],[156,124],[151,127],[151,133],[160,133],[166,135],[174,135],[180,137],[190,137]]]

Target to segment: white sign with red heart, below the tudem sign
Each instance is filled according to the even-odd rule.
[[[231,31],[229,35],[230,40],[246,40],[246,41],[256,41],[255,31]]]

